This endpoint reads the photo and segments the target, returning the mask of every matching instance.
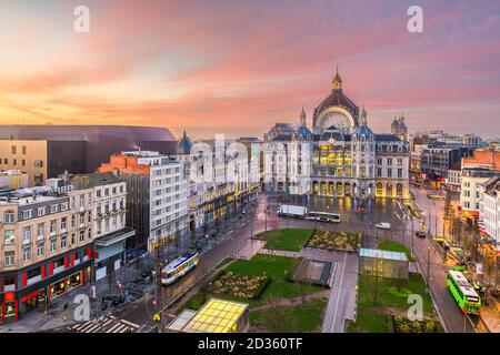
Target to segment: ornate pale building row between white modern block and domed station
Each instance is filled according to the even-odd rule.
[[[199,152],[191,152],[193,145],[184,132],[176,158],[183,163],[184,179],[189,182],[191,233],[206,233],[208,227],[241,211],[247,202],[257,197],[260,150],[252,145],[254,142],[241,139],[216,148],[216,141],[203,141],[197,145]],[[250,153],[242,156],[243,151]]]

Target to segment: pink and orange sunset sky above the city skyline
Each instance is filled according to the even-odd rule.
[[[411,2],[412,4],[413,2]],[[90,33],[73,9],[90,9]],[[336,64],[376,132],[500,135],[500,3],[419,1],[0,3],[0,123],[138,124],[262,136],[329,94]]]

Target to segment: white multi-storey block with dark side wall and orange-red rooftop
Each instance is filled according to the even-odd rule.
[[[128,247],[154,251],[189,233],[188,183],[181,162],[153,151],[113,154],[99,166],[127,183]]]

